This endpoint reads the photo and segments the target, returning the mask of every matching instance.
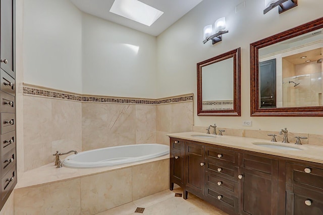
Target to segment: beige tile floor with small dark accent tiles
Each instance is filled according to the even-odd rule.
[[[188,199],[175,197],[175,193],[183,193],[178,186],[174,190],[165,190],[133,202],[106,210],[96,215],[228,215],[222,210],[188,194]],[[143,213],[137,213],[137,207],[144,208]]]

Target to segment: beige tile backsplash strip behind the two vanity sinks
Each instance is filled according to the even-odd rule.
[[[196,132],[202,132],[206,133],[206,127],[207,126],[193,126],[193,131]],[[251,137],[251,138],[259,138],[259,139],[266,139],[271,140],[272,137],[268,136],[267,134],[276,134],[276,140],[277,142],[283,141],[283,134],[279,134],[278,131],[267,131],[267,130],[248,130],[248,129],[235,129],[235,128],[223,128],[223,127],[217,127],[217,131],[219,130],[226,130],[223,132],[223,135],[229,135],[229,136],[241,136],[241,137]],[[210,133],[213,130],[210,130]],[[295,136],[305,136],[307,139],[301,139],[302,144],[308,144],[308,145],[315,145],[315,146],[323,146],[323,135],[319,134],[310,134],[310,133],[296,133],[293,131],[288,131],[288,140],[291,144],[294,144],[296,142]]]

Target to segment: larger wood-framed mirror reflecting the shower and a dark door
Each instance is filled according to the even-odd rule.
[[[323,17],[250,44],[251,116],[323,116]]]

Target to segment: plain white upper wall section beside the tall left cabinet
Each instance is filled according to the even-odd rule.
[[[24,82],[82,93],[82,13],[67,0],[24,0]]]

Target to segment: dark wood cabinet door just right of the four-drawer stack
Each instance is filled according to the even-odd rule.
[[[278,214],[278,161],[241,155],[240,211],[242,214]]]

